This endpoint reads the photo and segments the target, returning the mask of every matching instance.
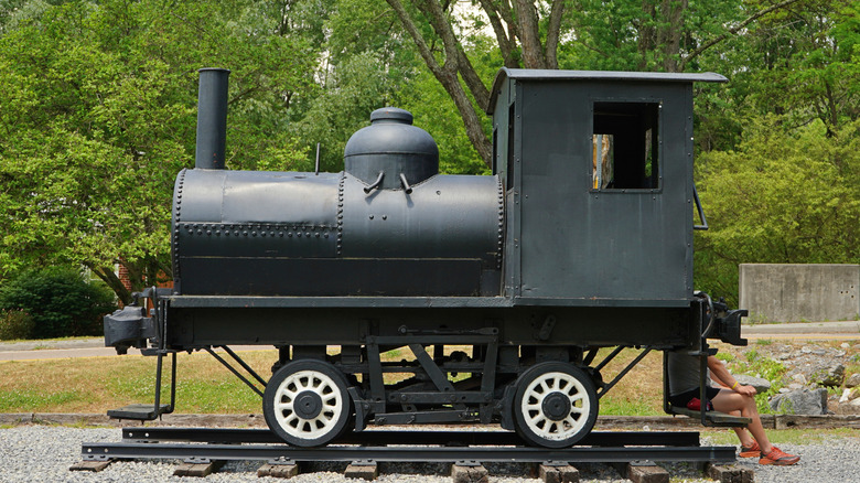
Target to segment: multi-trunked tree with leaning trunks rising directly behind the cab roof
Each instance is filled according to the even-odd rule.
[[[474,67],[474,32],[492,31],[507,67],[682,72],[749,25],[800,0],[759,6],[739,0],[386,0],[426,67],[454,101],[466,135],[490,165],[492,149],[479,110],[491,77]],[[486,28],[486,29],[485,29]]]

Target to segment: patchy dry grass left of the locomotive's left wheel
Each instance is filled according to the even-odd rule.
[[[276,351],[243,353],[258,374],[269,374]],[[260,397],[208,354],[179,354],[176,412],[260,412]],[[169,375],[170,364],[165,364]],[[105,412],[152,402],[155,358],[106,356],[0,362],[2,412]],[[166,377],[165,377],[166,379]],[[170,398],[166,382],[162,402]]]

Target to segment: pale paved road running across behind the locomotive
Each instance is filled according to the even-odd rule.
[[[742,334],[746,339],[794,339],[794,340],[860,340],[860,321],[849,322],[804,322],[781,324],[744,325]],[[230,347],[234,351],[260,351],[271,348],[268,345],[243,345]],[[140,355],[130,348],[129,355]],[[112,347],[105,347],[103,339],[75,341],[28,341],[14,344],[0,343],[0,361],[28,361],[64,357],[97,357],[115,355]]]

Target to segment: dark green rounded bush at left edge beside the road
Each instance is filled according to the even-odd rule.
[[[28,270],[0,289],[0,310],[23,310],[33,318],[33,339],[99,335],[101,315],[116,310],[112,292],[88,282],[77,270]]]

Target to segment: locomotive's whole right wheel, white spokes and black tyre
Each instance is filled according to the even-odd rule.
[[[566,448],[591,431],[598,419],[594,384],[579,367],[538,364],[519,376],[514,395],[517,433],[545,448]]]

